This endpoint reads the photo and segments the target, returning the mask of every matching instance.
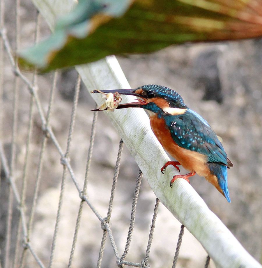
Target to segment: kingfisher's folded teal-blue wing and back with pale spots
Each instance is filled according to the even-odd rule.
[[[181,115],[165,115],[164,119],[178,146],[206,155],[210,163],[232,165],[217,135],[199,114],[188,109]]]

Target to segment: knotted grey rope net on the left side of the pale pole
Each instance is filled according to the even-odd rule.
[[[26,1],[24,1],[26,2]],[[133,267],[149,267],[150,261],[150,250],[152,245],[153,233],[155,228],[155,222],[157,218],[157,212],[159,207],[159,200],[156,198],[155,207],[152,212],[153,217],[151,220],[151,226],[148,234],[148,242],[145,248],[144,253],[141,253],[141,262],[132,262],[128,261],[127,256],[130,249],[130,244],[132,241],[132,234],[135,227],[135,216],[137,210],[137,202],[139,197],[139,191],[141,187],[142,173],[139,171],[137,176],[137,181],[134,188],[134,195],[131,206],[131,217],[130,217],[130,225],[126,238],[126,243],[124,246],[123,253],[120,253],[119,248],[116,246],[116,236],[118,232],[114,232],[113,230],[117,230],[118,227],[111,225],[111,215],[113,212],[113,203],[116,193],[116,186],[118,182],[118,174],[120,171],[120,161],[121,155],[123,152],[123,141],[120,139],[119,148],[116,158],[116,164],[114,168],[113,182],[111,188],[111,194],[109,198],[108,210],[105,215],[102,215],[98,212],[97,206],[93,204],[92,199],[88,196],[88,178],[90,177],[89,173],[91,170],[91,159],[94,150],[94,139],[95,139],[95,128],[98,118],[98,113],[93,113],[93,119],[91,124],[91,134],[89,138],[89,149],[87,153],[86,160],[86,168],[84,180],[78,179],[78,176],[75,175],[75,171],[73,170],[70,156],[71,156],[71,148],[73,142],[73,132],[75,129],[76,123],[76,115],[77,115],[77,106],[79,104],[79,93],[80,93],[80,85],[81,85],[81,77],[78,75],[75,81],[75,91],[72,103],[72,110],[68,119],[69,123],[69,131],[67,137],[65,137],[66,144],[62,146],[64,141],[59,141],[56,137],[54,131],[52,130],[52,118],[57,116],[57,114],[53,114],[54,106],[55,106],[55,96],[56,96],[56,88],[58,83],[58,72],[54,72],[53,74],[48,74],[52,83],[48,86],[49,90],[49,99],[47,101],[48,105],[45,112],[43,109],[43,99],[47,95],[47,88],[44,91],[38,89],[38,75],[36,72],[33,74],[24,75],[17,66],[17,62],[14,58],[14,51],[19,49],[20,47],[20,39],[21,32],[23,29],[23,25],[20,22],[20,14],[21,14],[21,6],[24,8],[25,3],[20,3],[20,0],[15,1],[15,21],[11,21],[8,18],[5,21],[5,16],[7,17],[7,11],[5,11],[5,2],[0,0],[0,106],[5,108],[0,110],[0,163],[1,163],[1,187],[5,187],[4,197],[8,197],[7,208],[6,208],[6,224],[5,224],[5,234],[4,234],[4,245],[1,247],[1,262],[0,265],[2,267],[35,267],[34,265],[37,263],[39,267],[56,267],[54,263],[54,256],[56,252],[63,251],[61,247],[57,246],[57,239],[59,239],[59,231],[61,229],[61,221],[63,221],[63,201],[68,199],[68,196],[65,194],[66,180],[68,175],[75,186],[75,195],[79,195],[79,205],[77,218],[75,223],[75,230],[72,238],[72,246],[70,250],[70,255],[68,256],[68,267],[75,267],[74,265],[74,255],[75,249],[77,247],[77,241],[79,238],[79,228],[81,226],[81,218],[86,209],[85,204],[92,210],[93,214],[100,221],[100,225],[102,228],[102,240],[99,247],[99,252],[97,253],[97,265],[96,267],[103,266],[103,256],[106,247],[110,247],[114,251],[114,255],[116,257],[115,263],[118,267],[124,267],[124,265],[129,265]],[[35,10],[34,14],[32,13],[31,23],[33,22],[33,30],[34,33],[34,41],[37,42],[40,36],[40,15],[37,10]],[[15,25],[15,36],[12,36],[13,27],[12,24]],[[42,21],[43,24],[43,21]],[[32,24],[31,24],[32,25]],[[11,31],[10,31],[11,30]],[[27,38],[27,36],[26,36]],[[10,41],[12,40],[12,41]],[[9,87],[12,89],[8,91],[5,89],[5,85],[8,81],[5,80],[6,73],[10,80],[13,79],[13,86]],[[10,81],[9,81],[10,82]],[[26,95],[25,90],[27,90],[30,94]],[[22,97],[21,97],[22,95]],[[26,96],[24,96],[26,95]],[[19,100],[21,97],[21,100]],[[24,103],[24,100],[27,101]],[[21,104],[22,102],[22,104]],[[10,106],[12,103],[12,107]],[[7,117],[7,111],[12,111],[12,117]],[[91,114],[91,113],[90,113]],[[20,123],[23,121],[25,123]],[[69,119],[70,118],[70,119]],[[36,126],[37,125],[37,126]],[[35,128],[38,127],[38,156],[32,156],[31,147],[33,146],[33,139],[36,137]],[[21,128],[24,128],[22,131]],[[11,133],[11,141],[10,148],[7,149],[5,144],[7,140],[6,134]],[[23,134],[22,134],[23,133]],[[23,139],[23,149],[24,152],[22,154],[23,160],[17,160],[17,151],[21,148],[17,144],[19,141]],[[104,142],[104,141],[101,141]],[[52,143],[52,145],[50,145]],[[79,144],[80,145],[80,144]],[[34,224],[36,223],[36,211],[40,198],[40,187],[41,183],[43,183],[43,168],[46,168],[44,155],[49,154],[49,148],[53,146],[56,148],[58,152],[58,157],[60,157],[60,163],[62,165],[62,176],[60,194],[58,199],[57,213],[54,222],[50,223],[51,226],[54,224],[53,234],[52,234],[52,242],[51,249],[47,252],[48,258],[46,257],[43,260],[39,256],[39,252],[36,251],[35,245],[32,243],[31,237],[34,232]],[[81,145],[80,145],[81,146]],[[62,148],[65,147],[65,150]],[[73,152],[73,155],[74,152]],[[57,158],[57,155],[56,157]],[[37,166],[36,176],[33,182],[29,182],[29,177],[31,174],[31,166],[32,161],[34,161],[34,165]],[[84,161],[81,158],[81,161]],[[19,164],[22,162],[23,164]],[[52,174],[52,171],[50,171]],[[7,182],[8,186],[4,185]],[[82,183],[82,185],[81,185]],[[31,186],[29,186],[31,184]],[[30,192],[31,200],[27,200],[27,194]],[[99,193],[97,193],[99,194]],[[126,192],[122,192],[122,194],[127,194]],[[1,195],[1,198],[4,198]],[[30,205],[29,205],[30,204]],[[4,213],[3,211],[1,212]],[[66,219],[65,219],[66,220]],[[116,224],[115,224],[116,225]],[[60,229],[59,229],[60,228]],[[175,245],[174,242],[174,261],[172,267],[176,267],[178,261],[178,254],[180,250],[180,246],[182,243],[182,236],[184,233],[184,226],[181,226],[180,233],[178,234],[178,242]],[[43,237],[45,234],[43,233]],[[100,233],[96,234],[97,240],[100,237]],[[38,237],[39,243],[41,243],[41,237]],[[121,237],[123,241],[124,238]],[[107,242],[109,241],[109,243]],[[158,241],[163,243],[163,241]],[[87,251],[83,251],[84,254],[88,254]],[[41,255],[43,257],[43,255]],[[34,262],[31,257],[33,257]],[[49,259],[47,261],[47,259]],[[203,267],[207,268],[209,265],[210,258],[206,259],[206,263],[203,263]],[[33,264],[32,264],[33,263]],[[107,263],[107,260],[105,260]],[[151,263],[152,267],[155,267],[154,263]],[[88,266],[89,267],[89,266]]]

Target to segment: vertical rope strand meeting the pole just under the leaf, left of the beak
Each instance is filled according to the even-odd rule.
[[[74,129],[74,125],[75,125],[75,115],[76,115],[77,103],[78,103],[78,98],[79,98],[80,83],[81,83],[81,77],[80,77],[80,75],[78,75],[76,86],[75,86],[74,103],[73,103],[72,112],[71,112],[71,119],[70,119],[69,133],[68,133],[68,138],[67,138],[67,148],[65,151],[65,158],[69,158],[70,145],[71,145],[71,141],[72,141],[72,134],[73,134],[73,129]],[[65,165],[63,165],[63,175],[62,175],[62,182],[61,182],[61,188],[60,188],[59,205],[58,205],[58,209],[57,209],[57,213],[56,213],[56,223],[55,223],[55,228],[54,228],[51,254],[50,254],[49,265],[48,265],[49,268],[51,268],[52,264],[53,264],[54,251],[55,251],[55,246],[56,246],[56,237],[57,237],[61,207],[62,207],[62,202],[63,202],[66,171],[67,171],[67,168]]]

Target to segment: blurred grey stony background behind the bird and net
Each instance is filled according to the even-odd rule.
[[[14,45],[14,1],[6,1],[6,26],[8,38]],[[29,0],[21,1],[22,47],[33,43],[36,10]],[[41,36],[49,33],[42,19]],[[208,207],[224,222],[240,243],[257,260],[261,260],[261,174],[262,174],[262,42],[245,40],[209,44],[186,44],[169,47],[149,55],[118,57],[118,61],[132,88],[144,84],[160,84],[176,90],[185,103],[205,118],[217,135],[234,164],[228,172],[228,184],[232,203],[204,178],[197,175],[190,179],[192,187],[205,200]],[[3,140],[6,154],[10,156],[12,124],[12,90],[14,76],[5,55],[3,92]],[[27,74],[30,77],[30,74]],[[44,110],[47,110],[49,90],[53,74],[38,78],[39,95]],[[70,112],[74,96],[77,72],[62,71],[59,74],[51,126],[63,150],[66,147]],[[20,83],[18,138],[15,178],[21,187],[22,167],[28,124],[29,91]],[[95,107],[88,90],[81,86],[76,125],[72,140],[71,165],[83,183],[89,136]],[[36,169],[42,139],[41,122],[34,111],[33,135],[30,145],[30,164],[26,205],[30,211]],[[114,166],[120,137],[112,127],[106,113],[99,113],[88,195],[102,215],[106,215]],[[164,163],[163,163],[164,164]],[[31,242],[44,264],[48,264],[52,233],[62,178],[60,157],[51,141],[44,155],[43,175],[40,184],[37,216]],[[139,168],[126,148],[123,151],[120,174],[112,214],[112,230],[120,252],[123,251],[130,221],[133,191]],[[186,172],[182,169],[181,173]],[[170,178],[167,178],[169,182]],[[0,249],[3,260],[7,183],[1,172],[1,225]],[[167,183],[169,187],[169,183]],[[79,207],[79,196],[69,179],[66,181],[61,228],[57,239],[54,267],[67,267],[72,236]],[[138,200],[134,237],[128,260],[141,262],[144,258],[155,196],[145,179],[142,180]],[[15,233],[18,212],[13,215]],[[74,258],[74,267],[95,267],[102,237],[99,221],[85,207],[80,225],[79,239]],[[156,222],[151,257],[151,267],[171,267],[180,224],[169,211],[160,205]],[[14,239],[14,235],[12,237]],[[14,244],[11,245],[12,251]],[[178,267],[203,267],[206,253],[201,245],[185,233]],[[26,267],[36,267],[28,256]],[[117,267],[113,251],[107,244],[102,267]],[[211,264],[211,267],[214,267]]]

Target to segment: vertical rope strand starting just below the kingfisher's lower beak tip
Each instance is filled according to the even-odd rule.
[[[86,195],[87,179],[88,179],[88,173],[89,173],[89,168],[90,168],[90,164],[91,164],[91,157],[92,157],[92,152],[93,152],[93,146],[94,146],[95,125],[96,125],[96,121],[97,121],[97,115],[98,115],[98,113],[94,112],[93,122],[92,122],[92,127],[91,127],[90,143],[89,143],[89,148],[88,148],[88,156],[87,156],[87,161],[86,161],[86,172],[85,172],[85,179],[84,179],[84,186],[83,186],[83,190],[82,190],[82,196]],[[76,225],[75,225],[75,232],[74,232],[72,247],[71,247],[71,251],[70,251],[70,257],[69,257],[69,261],[68,261],[68,268],[70,268],[72,265],[72,261],[73,261],[73,257],[74,257],[74,253],[75,253],[75,245],[77,242],[79,223],[80,223],[80,219],[82,216],[83,203],[84,203],[84,199],[81,200],[80,205],[79,205],[79,210],[78,210],[78,214],[77,214],[77,221],[76,221]]]

